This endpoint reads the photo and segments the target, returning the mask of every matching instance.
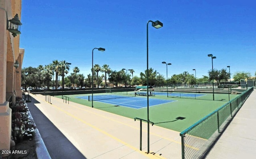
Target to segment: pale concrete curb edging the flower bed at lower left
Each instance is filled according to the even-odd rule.
[[[33,124],[36,126],[36,124],[34,123],[34,119],[30,113],[30,111],[28,111],[28,115],[30,116],[30,120],[33,121]],[[44,141],[38,131],[38,129],[35,129],[36,133],[35,133],[35,141],[36,141],[36,156],[38,159],[52,159],[50,157],[50,154],[44,144]]]

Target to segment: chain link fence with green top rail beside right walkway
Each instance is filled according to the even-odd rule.
[[[201,159],[206,157],[210,147],[252,91],[253,87],[182,131],[180,133],[182,159]]]

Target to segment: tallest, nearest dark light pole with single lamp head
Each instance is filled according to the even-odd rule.
[[[156,29],[163,27],[163,24],[156,20],[153,22],[149,20],[148,23],[151,22],[152,26]],[[149,153],[149,100],[148,100],[148,23],[147,23],[147,111],[148,111],[148,153]]]

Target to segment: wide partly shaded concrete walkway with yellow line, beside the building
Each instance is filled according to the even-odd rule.
[[[180,159],[177,131],[150,125],[150,153],[147,154],[147,124],[77,103],[63,103],[52,97],[30,94],[29,105],[52,159]],[[33,100],[34,100],[33,99]]]

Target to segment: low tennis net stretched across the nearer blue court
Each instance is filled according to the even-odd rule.
[[[135,96],[136,96],[135,93],[93,95],[93,101],[117,99],[117,98],[128,98],[128,97],[135,97]],[[92,96],[91,95],[88,96],[88,101],[92,101]]]

